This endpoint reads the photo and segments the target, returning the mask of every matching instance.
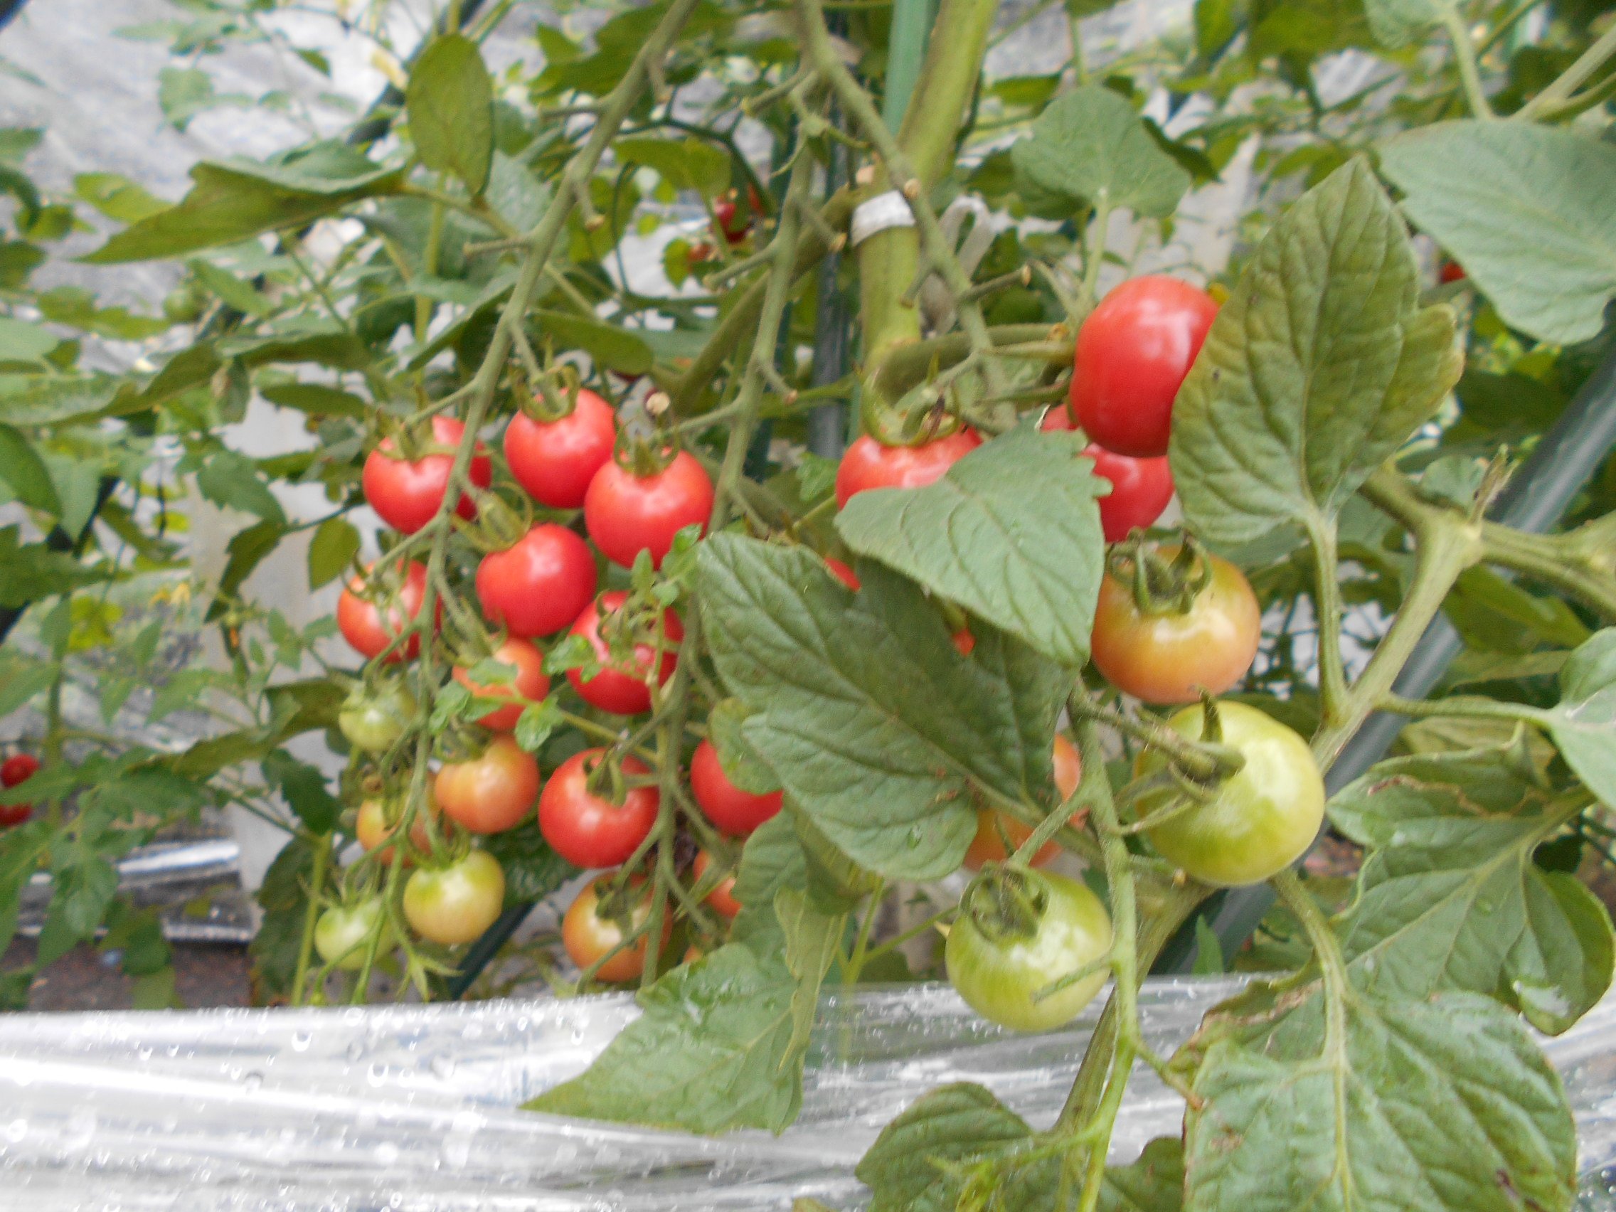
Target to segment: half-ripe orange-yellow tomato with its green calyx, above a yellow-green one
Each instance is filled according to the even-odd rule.
[[[1262,606],[1246,575],[1188,540],[1112,549],[1094,608],[1089,656],[1105,680],[1146,703],[1222,695],[1257,658]]]

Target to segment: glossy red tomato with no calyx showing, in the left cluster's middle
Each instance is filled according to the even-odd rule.
[[[566,527],[540,522],[477,566],[477,601],[494,627],[527,640],[554,635],[595,598],[595,556]]]

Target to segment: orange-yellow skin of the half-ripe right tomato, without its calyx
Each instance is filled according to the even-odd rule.
[[[1172,558],[1176,549],[1162,551]],[[1133,587],[1109,572],[1094,609],[1089,654],[1105,680],[1146,703],[1194,703],[1206,690],[1222,695],[1257,658],[1262,608],[1246,575],[1227,559],[1202,553],[1210,583],[1186,614],[1146,614]]]

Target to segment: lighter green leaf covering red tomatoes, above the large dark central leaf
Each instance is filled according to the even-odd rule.
[[[835,528],[860,556],[1081,667],[1105,574],[1105,483],[1081,449],[1075,433],[1018,425],[926,488],[858,493]]]

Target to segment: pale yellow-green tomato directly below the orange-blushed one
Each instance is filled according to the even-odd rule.
[[[1196,805],[1147,831],[1168,863],[1204,884],[1235,887],[1278,874],[1306,853],[1324,823],[1324,779],[1307,742],[1272,716],[1244,703],[1218,703],[1222,743],[1239,750],[1246,764],[1218,789],[1210,803]],[[1167,721],[1175,732],[1201,740],[1202,708],[1185,708]],[[1134,761],[1136,774],[1167,764],[1147,748]],[[1139,814],[1162,808],[1173,792],[1144,797]]]

